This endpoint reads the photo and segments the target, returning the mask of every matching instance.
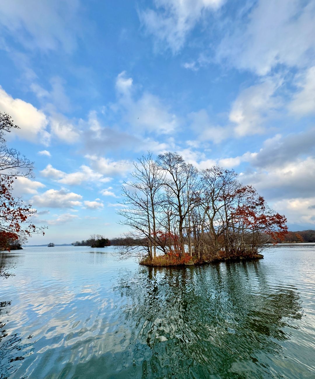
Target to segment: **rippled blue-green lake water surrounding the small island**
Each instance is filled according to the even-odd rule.
[[[0,378],[315,378],[315,244],[147,268],[111,247],[0,253]]]

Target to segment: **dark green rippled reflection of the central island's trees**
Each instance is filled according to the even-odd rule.
[[[273,377],[292,319],[294,287],[267,282],[259,262],[142,268],[115,290],[129,298],[122,323],[143,378]]]

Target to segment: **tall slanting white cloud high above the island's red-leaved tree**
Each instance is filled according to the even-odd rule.
[[[282,105],[275,94],[281,85],[281,79],[269,77],[240,92],[229,114],[229,120],[236,124],[234,132],[237,136],[264,132],[265,122]]]

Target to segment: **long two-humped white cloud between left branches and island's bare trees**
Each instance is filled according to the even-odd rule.
[[[104,177],[102,174],[93,171],[89,166],[82,165],[80,171],[72,172],[70,174],[64,171],[53,168],[51,164],[40,171],[41,175],[51,179],[55,179],[58,183],[67,185],[80,185],[83,182],[110,182],[112,178]]]

